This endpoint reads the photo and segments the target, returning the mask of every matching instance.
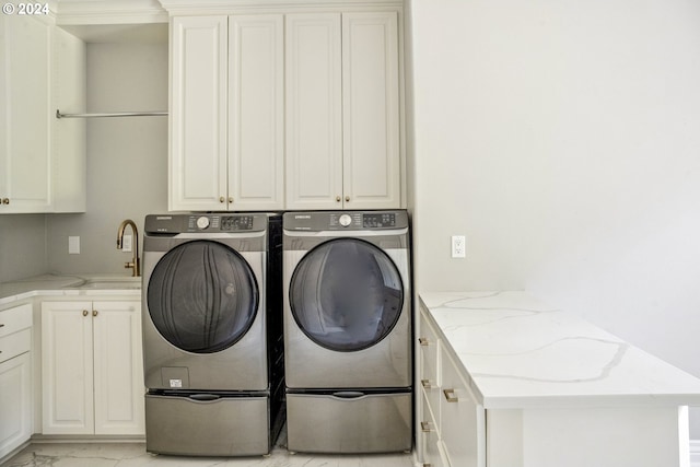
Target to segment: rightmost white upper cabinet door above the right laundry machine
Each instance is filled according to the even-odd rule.
[[[342,15],[346,208],[400,207],[398,19]]]

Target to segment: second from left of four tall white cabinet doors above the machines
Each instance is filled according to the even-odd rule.
[[[282,15],[229,19],[230,208],[281,209],[284,186]]]

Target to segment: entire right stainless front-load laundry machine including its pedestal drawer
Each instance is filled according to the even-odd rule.
[[[411,448],[406,211],[283,217],[290,451]]]

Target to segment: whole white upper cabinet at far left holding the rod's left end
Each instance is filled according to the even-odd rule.
[[[0,213],[85,210],[85,46],[40,15],[0,16]]]

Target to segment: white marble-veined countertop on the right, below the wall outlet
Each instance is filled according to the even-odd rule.
[[[421,293],[485,408],[700,406],[700,380],[524,292]]]

